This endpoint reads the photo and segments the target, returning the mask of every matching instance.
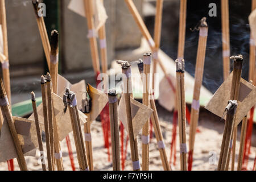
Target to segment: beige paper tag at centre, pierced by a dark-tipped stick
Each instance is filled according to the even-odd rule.
[[[135,101],[133,98],[130,98],[130,101],[131,116],[133,118],[133,134],[135,138],[139,134],[139,131],[141,131],[144,124],[150,118],[150,115],[152,114],[153,110],[150,107],[141,104],[141,102]],[[125,129],[128,133],[124,95],[122,95],[118,105],[118,119],[123,123],[123,126],[125,126]]]

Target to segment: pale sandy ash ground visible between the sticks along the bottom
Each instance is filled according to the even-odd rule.
[[[164,110],[162,107],[157,105],[159,111],[159,119],[160,125],[163,132],[164,142],[166,144],[166,152],[168,160],[170,159],[170,142],[172,135],[172,113]],[[240,145],[240,129],[238,127],[238,141],[237,141],[237,156]],[[222,133],[224,129],[224,121],[220,121],[220,118],[214,116],[213,114],[208,113],[208,111],[201,110],[200,118],[199,118],[199,129],[200,133],[196,134],[196,143],[195,143],[195,151],[194,151],[194,162],[193,162],[193,170],[210,170],[214,171],[217,168],[216,164],[212,164],[209,162],[210,154],[216,154],[216,163],[218,162],[218,156],[220,153],[220,146],[222,140]],[[187,139],[189,133],[189,125],[187,125]],[[251,170],[253,168],[255,152],[256,152],[256,134],[255,127],[253,131],[253,140],[251,147],[251,154],[249,157],[248,169]],[[69,134],[72,143],[73,155],[76,169],[78,169],[79,165],[77,162],[77,155],[75,152],[75,143],[73,141],[73,134]],[[173,170],[179,170],[179,136],[177,133],[177,160],[176,166],[172,164]],[[108,151],[104,148],[104,139],[102,134],[102,127],[100,122],[94,121],[92,124],[92,140],[93,140],[93,162],[95,170],[112,170],[112,163],[108,162]],[[188,141],[188,140],[187,140]],[[141,137],[138,137],[139,148],[141,148]],[[44,143],[44,148],[46,148],[46,143]],[[63,151],[63,163],[65,170],[71,170],[71,164],[68,156],[68,149],[65,140],[61,142],[61,149]],[[139,150],[141,152],[141,150]],[[140,154],[141,155],[141,154]],[[39,152],[35,157],[26,157],[26,161],[28,164],[29,170],[42,170],[42,167],[38,163]],[[141,156],[140,156],[141,159]],[[18,170],[18,164],[15,161],[15,169]],[[237,164],[236,164],[237,166]],[[7,163],[0,163],[0,170],[7,170]],[[131,156],[130,156],[130,147],[128,146],[128,154],[126,160],[126,168],[125,170],[131,170]],[[156,146],[156,139],[152,138],[150,142],[150,170],[163,170],[162,162],[160,160],[159,151]]]

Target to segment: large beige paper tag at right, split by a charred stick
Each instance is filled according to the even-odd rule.
[[[218,88],[216,93],[210,99],[205,109],[213,114],[223,117],[225,107],[230,100],[230,89],[232,85],[233,72],[229,75],[226,81]],[[238,98],[238,106],[235,123],[238,125],[248,111],[256,104],[256,87],[241,78],[240,94]]]

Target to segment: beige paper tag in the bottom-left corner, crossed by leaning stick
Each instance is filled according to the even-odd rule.
[[[22,145],[24,156],[35,156],[38,139],[36,135],[35,121],[25,118],[13,117],[14,125],[18,133],[19,142]],[[15,144],[7,121],[3,122],[0,137],[0,162],[17,158]]]

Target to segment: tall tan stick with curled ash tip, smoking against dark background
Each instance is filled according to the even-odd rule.
[[[189,127],[189,152],[191,152],[191,157],[193,158],[193,150],[195,146],[196,128],[199,119],[200,111],[200,90],[203,81],[204,74],[204,61],[205,61],[205,51],[207,46],[207,36],[208,36],[208,25],[205,22],[206,18],[201,19],[200,22],[200,32],[199,32],[199,44],[197,49],[196,57],[196,71],[195,71],[195,85],[193,91],[193,102],[191,105],[191,123]]]

